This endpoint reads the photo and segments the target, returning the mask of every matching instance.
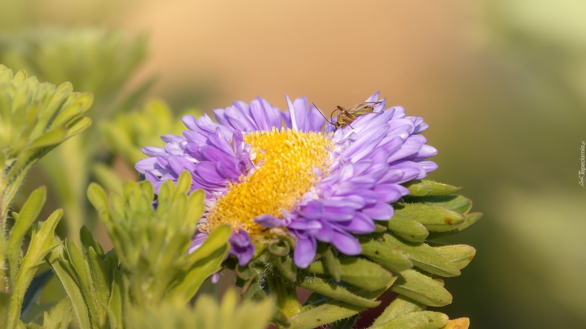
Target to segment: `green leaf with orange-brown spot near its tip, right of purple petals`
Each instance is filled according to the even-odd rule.
[[[423,203],[407,203],[403,207],[396,207],[395,213],[411,217],[428,230],[437,232],[451,231],[465,220],[464,215],[455,211]]]

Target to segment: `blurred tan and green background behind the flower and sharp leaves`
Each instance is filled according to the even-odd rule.
[[[580,0],[0,0],[0,63],[95,96],[92,129],[33,170],[15,208],[47,184],[60,234],[85,224],[107,245],[87,184],[138,179],[139,146],[180,132],[180,114],[257,95],[284,109],[284,92],[334,109],[380,90],[430,124],[429,177],[485,213],[444,240],[477,253],[442,311],[472,328],[584,328],[585,17]]]

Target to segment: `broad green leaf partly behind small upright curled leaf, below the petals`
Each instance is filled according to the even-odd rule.
[[[309,265],[310,273],[331,275],[323,261],[316,261]],[[373,262],[361,258],[340,259],[340,278],[343,282],[366,290],[378,290],[389,286],[394,280],[391,273]],[[329,296],[329,295],[326,295]]]

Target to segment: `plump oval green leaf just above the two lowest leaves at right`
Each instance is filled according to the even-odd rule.
[[[452,295],[441,283],[408,269],[400,273],[391,290],[428,306],[446,306],[452,303]]]

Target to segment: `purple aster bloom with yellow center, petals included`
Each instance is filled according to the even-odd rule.
[[[367,102],[378,101],[379,92]],[[204,115],[183,116],[183,136],[166,135],[165,148],[147,147],[136,168],[158,189],[183,170],[191,190],[206,191],[206,213],[193,237],[195,250],[219,225],[230,225],[230,253],[245,265],[254,243],[275,235],[295,239],[294,261],[306,268],[317,242],[346,255],[360,253],[356,234],[374,231],[374,220],[393,216],[390,203],[408,194],[401,186],[437,169],[437,153],[418,133],[423,118],[402,107],[385,109],[384,98],[352,126],[335,128],[305,97],[285,95],[281,112],[263,98],[233,102]]]

